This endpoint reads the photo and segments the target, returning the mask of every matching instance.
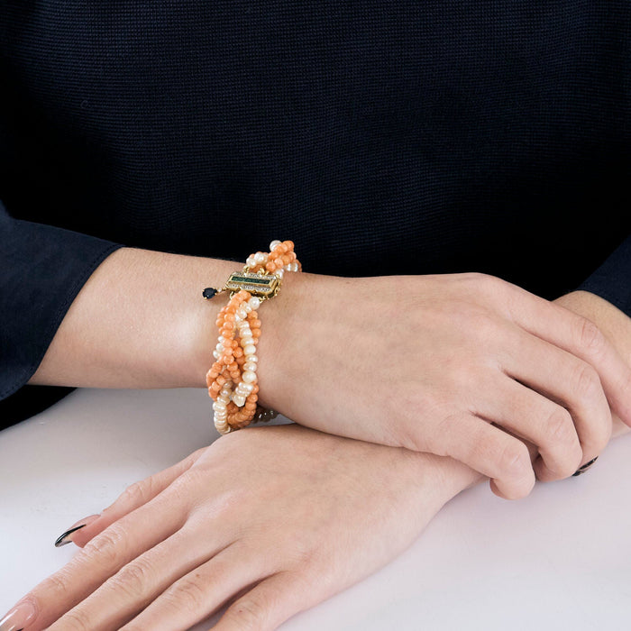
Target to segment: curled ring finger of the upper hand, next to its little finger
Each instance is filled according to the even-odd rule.
[[[560,480],[577,470],[581,444],[572,416],[564,407],[505,376],[492,392],[492,398],[484,400],[476,414],[535,444],[542,456],[535,462],[539,480]]]

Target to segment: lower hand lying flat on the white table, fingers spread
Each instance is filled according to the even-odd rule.
[[[215,629],[274,629],[389,562],[475,479],[297,425],[230,434],[87,520],[70,535],[83,549],[7,624],[174,631],[236,599]]]

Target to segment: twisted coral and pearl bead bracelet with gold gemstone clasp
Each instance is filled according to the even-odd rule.
[[[208,394],[215,401],[215,427],[220,434],[252,422],[269,421],[278,414],[257,403],[256,346],[261,337],[258,309],[261,301],[278,294],[285,271],[301,270],[294,243],[272,241],[269,253],[251,254],[243,270],[231,274],[224,288],[206,288],[202,292],[206,299],[230,292],[230,300],[216,320],[219,337],[213,352],[215,363],[206,373]]]

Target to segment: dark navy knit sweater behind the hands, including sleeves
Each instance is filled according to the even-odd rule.
[[[630,66],[627,0],[2,0],[0,426],[121,244],[631,315]]]

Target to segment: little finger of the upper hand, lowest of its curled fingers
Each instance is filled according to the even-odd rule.
[[[535,486],[526,444],[471,414],[445,418],[427,451],[451,456],[487,476],[501,498],[525,498]]]

